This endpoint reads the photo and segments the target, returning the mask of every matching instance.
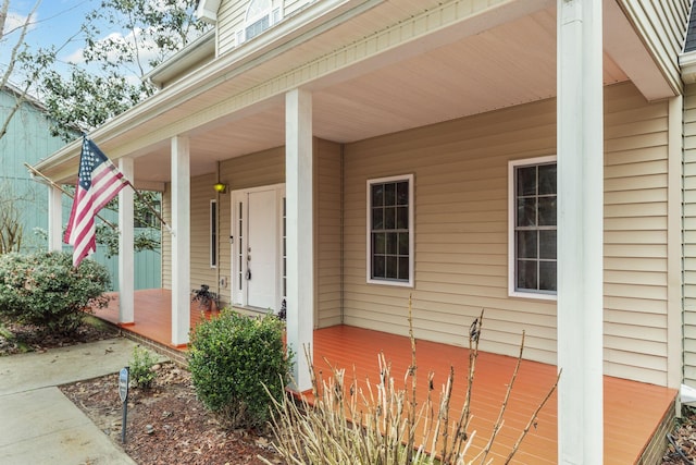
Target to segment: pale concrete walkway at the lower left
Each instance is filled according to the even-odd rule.
[[[0,464],[135,464],[57,388],[119,371],[134,345],[116,338],[0,357]]]

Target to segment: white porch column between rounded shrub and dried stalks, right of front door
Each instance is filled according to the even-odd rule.
[[[285,98],[285,194],[287,222],[287,343],[295,352],[295,389],[311,388],[304,346],[313,351],[314,206],[312,95],[295,89]]]

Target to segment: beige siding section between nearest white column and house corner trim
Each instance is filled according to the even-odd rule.
[[[668,102],[605,98],[605,372],[656,384],[668,369]]]

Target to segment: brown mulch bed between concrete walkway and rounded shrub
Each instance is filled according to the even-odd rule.
[[[266,438],[253,431],[227,430],[196,399],[190,374],[166,363],[156,365],[150,389],[130,389],[126,442],[122,444],[123,404],[119,375],[61,387],[87,416],[122,444],[138,464],[282,463]]]

